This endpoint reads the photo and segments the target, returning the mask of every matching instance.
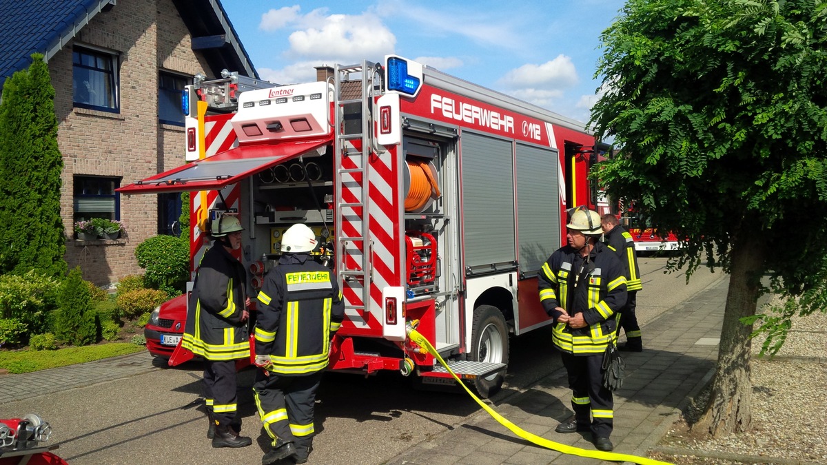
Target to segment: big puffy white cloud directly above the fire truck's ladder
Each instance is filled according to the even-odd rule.
[[[303,19],[318,23],[320,17],[317,10]],[[330,15],[323,20],[290,34],[287,55],[347,62],[364,57],[380,60],[394,51],[396,36],[373,14]]]

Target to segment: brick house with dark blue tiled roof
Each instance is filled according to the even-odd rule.
[[[0,2],[0,76],[45,55],[64,157],[60,213],[69,269],[97,285],[141,273],[134,252],[179,232],[178,194],[121,195],[120,185],[184,163],[180,96],[195,74],[258,78],[218,0]],[[117,240],[80,241],[79,219],[122,220]]]

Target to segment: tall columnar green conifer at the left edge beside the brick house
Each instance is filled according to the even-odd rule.
[[[0,273],[66,273],[55,89],[43,55],[6,79],[0,103]]]

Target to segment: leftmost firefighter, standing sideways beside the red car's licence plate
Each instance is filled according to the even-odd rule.
[[[250,314],[246,270],[232,251],[241,249],[241,223],[224,214],[213,220],[213,247],[198,266],[189,297],[181,347],[204,358],[204,397],[214,448],[241,448],[252,440],[239,436],[236,360],[250,357]],[[231,426],[232,424],[232,426]]]

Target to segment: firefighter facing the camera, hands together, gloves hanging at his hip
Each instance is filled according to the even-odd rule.
[[[590,431],[595,447],[610,451],[614,402],[603,386],[601,363],[616,338],[615,313],[626,302],[626,276],[614,252],[598,241],[599,214],[578,207],[566,228],[568,244],[538,273],[540,301],[554,319],[552,341],[562,354],[575,413],[555,431]]]

